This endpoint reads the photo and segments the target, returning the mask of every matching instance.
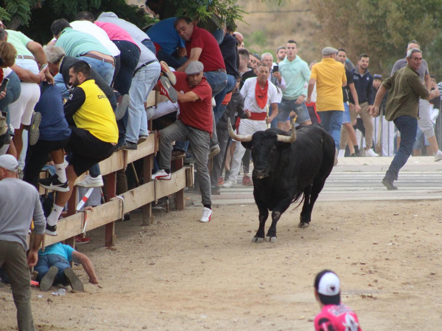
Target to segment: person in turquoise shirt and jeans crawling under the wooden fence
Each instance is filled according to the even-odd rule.
[[[91,260],[71,246],[56,243],[38,251],[38,262],[34,271],[38,272],[37,281],[40,282],[40,290],[47,291],[53,284],[63,286],[70,285],[73,290],[83,292],[84,286],[80,278],[75,275],[69,262],[81,264],[88,274],[89,282],[98,284]]]

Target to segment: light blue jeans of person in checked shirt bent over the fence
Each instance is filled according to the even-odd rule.
[[[149,93],[155,87],[160,77],[161,67],[158,62],[152,62],[137,70],[132,79],[130,87],[129,117],[126,127],[126,140],[130,143],[137,143],[139,135],[147,135],[147,116],[144,109],[144,102]]]

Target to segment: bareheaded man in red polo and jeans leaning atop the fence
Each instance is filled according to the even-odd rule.
[[[174,26],[180,37],[186,41],[188,58],[188,60],[176,70],[184,71],[191,62],[201,62],[204,66],[203,75],[212,88],[212,97],[214,97],[227,87],[227,72],[225,71],[224,59],[217,40],[209,31],[194,25],[187,17],[175,19]],[[213,136],[210,139],[209,158],[215,156],[220,151],[214,117],[212,130]]]

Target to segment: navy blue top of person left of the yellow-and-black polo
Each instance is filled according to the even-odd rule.
[[[40,100],[34,108],[36,112],[42,114],[39,139],[49,141],[68,139],[71,129],[65,119],[60,90],[54,85],[43,84],[45,84],[42,86],[43,93],[40,94]]]

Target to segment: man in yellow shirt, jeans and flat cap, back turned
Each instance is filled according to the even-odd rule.
[[[324,130],[335,139],[335,148],[339,148],[344,112],[342,87],[347,85],[345,68],[342,63],[336,61],[337,53],[338,50],[333,47],[322,49],[322,61],[313,66],[307,90],[307,103],[310,103],[316,83],[316,112],[321,118]],[[338,150],[336,149],[335,165],[337,164]]]

